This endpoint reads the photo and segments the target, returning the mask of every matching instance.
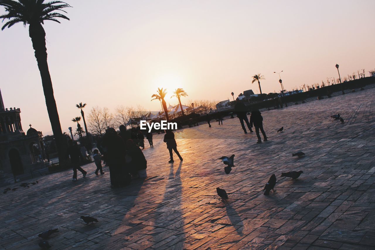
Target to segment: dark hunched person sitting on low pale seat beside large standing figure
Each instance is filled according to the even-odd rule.
[[[147,168],[147,161],[144,157],[142,150],[133,143],[133,140],[129,139],[126,141],[126,154],[131,158],[128,164],[128,169],[133,177],[138,176],[138,171]]]

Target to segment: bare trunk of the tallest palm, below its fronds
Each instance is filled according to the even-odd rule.
[[[42,78],[42,86],[44,97],[46,100],[49,121],[51,122],[52,132],[55,137],[58,160],[61,163],[66,159],[66,151],[68,145],[66,144],[66,140],[63,138],[60,119],[58,117],[57,112],[56,101],[53,95],[51,75],[49,75],[47,63],[47,48],[45,35],[46,33],[42,27],[42,24],[30,24],[29,36],[31,38],[31,42],[33,43],[33,48],[35,50],[35,58],[38,63],[40,77]]]

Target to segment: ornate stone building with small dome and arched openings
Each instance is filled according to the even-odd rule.
[[[0,186],[48,171],[42,132],[22,129],[20,108],[5,108],[0,90]]]

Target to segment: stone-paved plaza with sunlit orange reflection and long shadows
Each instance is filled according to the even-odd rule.
[[[36,178],[1,194],[1,248],[39,249],[38,233],[58,227],[51,249],[374,249],[374,100],[375,88],[263,111],[261,144],[237,118],[185,128],[175,132],[182,163],[168,164],[155,135],[143,151],[148,178],[124,188],[111,189],[108,168],[96,176],[94,164],[77,182],[71,170]],[[330,118],[337,113],[344,123]],[[305,157],[292,157],[300,150]],[[217,158],[231,154],[226,175]],[[290,170],[304,173],[281,177]],[[276,192],[264,196],[272,174]]]

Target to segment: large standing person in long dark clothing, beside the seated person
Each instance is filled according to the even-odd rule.
[[[119,187],[129,182],[125,168],[125,143],[114,128],[107,128],[103,142],[107,148],[106,160],[110,167],[111,187]],[[129,176],[130,177],[130,176]]]

